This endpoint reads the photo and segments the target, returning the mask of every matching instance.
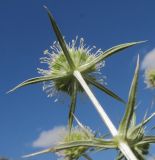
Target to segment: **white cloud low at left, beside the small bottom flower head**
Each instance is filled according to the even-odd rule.
[[[32,143],[33,147],[50,147],[63,139],[67,134],[67,128],[64,126],[55,127],[48,131],[42,131],[39,137]]]

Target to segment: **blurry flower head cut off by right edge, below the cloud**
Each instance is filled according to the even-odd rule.
[[[148,88],[155,88],[155,69],[147,69],[145,71],[145,83]]]

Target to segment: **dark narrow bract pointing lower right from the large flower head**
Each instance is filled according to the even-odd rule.
[[[106,88],[105,86],[103,86],[102,84],[98,83],[96,80],[94,80],[93,78],[91,78],[90,76],[84,76],[84,79],[91,83],[92,85],[94,85],[95,87],[97,87],[98,89],[100,89],[101,91],[105,92],[106,94],[108,94],[109,96],[113,97],[114,99],[126,104],[126,102],[120,98],[118,95],[116,95],[114,92],[110,91],[108,88]]]

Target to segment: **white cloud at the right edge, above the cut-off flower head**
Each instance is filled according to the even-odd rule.
[[[143,70],[155,69],[155,48],[146,54],[141,68]]]

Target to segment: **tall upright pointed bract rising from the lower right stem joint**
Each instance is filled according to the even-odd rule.
[[[134,107],[135,107],[135,101],[136,101],[136,90],[137,90],[137,84],[138,84],[138,72],[139,72],[139,55],[137,58],[135,74],[134,74],[130,91],[129,91],[127,108],[119,127],[119,134],[121,134],[124,138],[126,138],[127,131],[130,126],[130,121],[134,113]]]

